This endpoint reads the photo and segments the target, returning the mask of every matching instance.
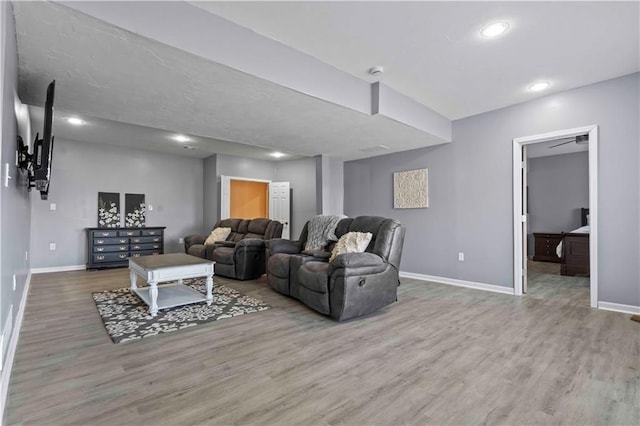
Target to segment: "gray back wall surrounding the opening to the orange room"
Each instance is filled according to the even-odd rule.
[[[208,233],[220,217],[220,176],[289,182],[292,189],[291,238],[297,238],[304,223],[315,214],[315,160],[265,161],[217,154],[204,160],[204,228]]]

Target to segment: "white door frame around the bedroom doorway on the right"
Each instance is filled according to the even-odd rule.
[[[513,290],[522,296],[523,286],[523,244],[526,238],[522,232],[522,222],[526,220],[522,209],[522,147],[538,142],[589,134],[589,269],[590,304],[598,307],[598,126],[590,125],[573,129],[558,130],[513,139]]]

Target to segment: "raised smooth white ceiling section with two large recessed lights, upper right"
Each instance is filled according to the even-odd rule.
[[[638,2],[193,2],[450,119],[640,69]],[[494,40],[480,29],[508,21]],[[373,81],[373,80],[372,80]]]

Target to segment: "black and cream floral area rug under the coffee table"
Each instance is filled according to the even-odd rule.
[[[163,283],[164,284],[164,283]],[[204,279],[184,280],[184,284],[206,294]],[[265,311],[269,305],[232,288],[213,285],[213,303],[192,303],[161,309],[155,317],[149,307],[129,288],[92,293],[98,313],[114,343],[155,336],[195,327],[210,321]]]

